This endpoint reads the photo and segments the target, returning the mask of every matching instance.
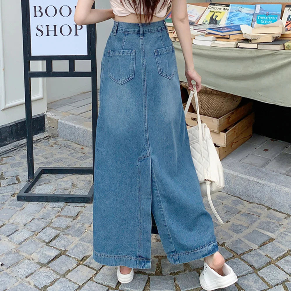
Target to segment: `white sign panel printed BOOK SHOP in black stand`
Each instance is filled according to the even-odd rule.
[[[77,0],[30,0],[32,56],[87,55],[87,26],[74,22]]]

